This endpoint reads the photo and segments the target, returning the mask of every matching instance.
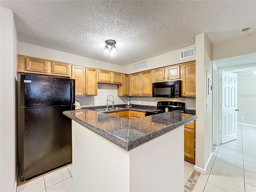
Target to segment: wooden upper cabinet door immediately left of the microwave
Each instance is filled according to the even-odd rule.
[[[142,72],[140,74],[141,95],[152,96],[152,71]]]

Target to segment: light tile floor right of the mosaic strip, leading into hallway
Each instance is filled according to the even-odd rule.
[[[256,127],[238,125],[238,138],[216,147],[192,191],[256,192]]]

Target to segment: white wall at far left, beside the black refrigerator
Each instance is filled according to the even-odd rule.
[[[16,54],[17,34],[13,12],[1,9],[0,65],[0,191],[16,191]]]

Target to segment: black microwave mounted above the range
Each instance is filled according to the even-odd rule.
[[[166,81],[152,84],[152,97],[181,97],[181,80]]]

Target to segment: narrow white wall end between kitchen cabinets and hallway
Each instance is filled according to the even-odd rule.
[[[198,168],[200,172],[206,170],[212,153],[212,98],[206,98],[206,70],[212,72],[211,44],[206,34],[202,33],[196,36],[196,115],[198,118],[196,119],[195,169]],[[206,109],[206,102],[208,102],[208,109]]]

